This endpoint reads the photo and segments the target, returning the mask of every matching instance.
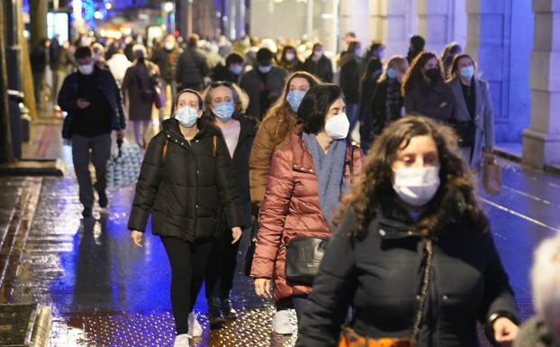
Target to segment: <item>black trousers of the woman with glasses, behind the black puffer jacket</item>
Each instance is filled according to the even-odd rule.
[[[231,231],[215,239],[211,260],[204,277],[207,298],[228,298],[233,287],[235,267],[239,251],[239,241],[231,244]]]

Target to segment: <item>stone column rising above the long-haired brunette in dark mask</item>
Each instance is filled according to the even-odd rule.
[[[426,39],[426,50],[439,56],[455,41],[455,0],[418,0],[418,33]]]

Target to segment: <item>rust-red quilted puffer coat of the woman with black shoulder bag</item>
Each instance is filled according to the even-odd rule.
[[[312,288],[285,279],[285,245],[294,237],[330,238],[330,227],[321,211],[312,154],[302,140],[302,126],[295,128],[292,142],[276,151],[260,208],[257,248],[251,276],[274,279],[274,299],[306,295]],[[362,151],[348,144],[344,178],[350,180],[350,160],[357,175],[362,170]]]

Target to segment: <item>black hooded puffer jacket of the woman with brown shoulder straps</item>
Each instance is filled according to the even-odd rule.
[[[128,228],[187,242],[221,236],[221,209],[227,227],[245,227],[238,180],[220,130],[199,122],[200,131],[185,140],[175,118],[162,123],[148,145]],[[214,154],[215,153],[215,154]]]

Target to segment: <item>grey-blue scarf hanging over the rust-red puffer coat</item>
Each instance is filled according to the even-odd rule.
[[[313,166],[319,183],[319,202],[325,220],[330,223],[330,215],[339,205],[340,196],[346,188],[344,181],[344,160],[346,140],[334,140],[327,154],[323,151],[317,136],[303,132],[302,140],[313,158]]]

